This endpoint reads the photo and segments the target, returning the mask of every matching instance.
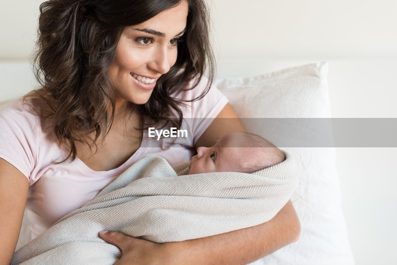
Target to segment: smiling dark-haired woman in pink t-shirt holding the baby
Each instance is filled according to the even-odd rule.
[[[25,203],[37,236],[139,158],[185,162],[196,147],[244,131],[224,96],[208,90],[214,71],[203,1],[51,0],[40,12],[43,88],[0,113],[2,264],[12,258]],[[148,126],[179,128],[182,116],[217,119],[200,122],[190,146],[142,146]],[[246,264],[297,240],[299,221],[288,202],[269,222],[207,238],[156,244],[99,235],[121,249],[117,264]]]

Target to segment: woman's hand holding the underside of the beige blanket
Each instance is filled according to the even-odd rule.
[[[104,234],[101,232],[99,233],[100,238],[121,250],[121,259],[115,265],[173,264],[170,260],[170,253],[166,251],[166,245],[168,243],[154,243],[148,240],[126,236],[115,231]]]

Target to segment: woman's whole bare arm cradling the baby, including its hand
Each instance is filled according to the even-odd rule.
[[[229,132],[245,132],[233,108],[227,104],[197,141],[198,146],[212,146]],[[264,257],[298,240],[300,224],[291,201],[268,222],[181,242],[157,244],[131,238],[118,232],[100,234],[118,246],[123,256],[119,264],[191,264],[241,265]]]

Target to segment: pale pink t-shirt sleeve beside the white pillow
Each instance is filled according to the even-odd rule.
[[[197,87],[190,91],[191,99],[201,95],[206,88],[207,82],[208,79],[206,77],[201,78]],[[191,116],[189,117],[191,120],[188,122],[191,125],[194,143],[197,142],[198,138],[210,126],[211,122],[227,103],[227,98],[215,85],[210,87],[208,93],[202,99],[191,102]],[[187,116],[184,115],[184,118],[187,118]]]

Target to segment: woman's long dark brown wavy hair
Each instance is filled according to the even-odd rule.
[[[142,23],[182,1],[188,3],[189,13],[175,64],[157,80],[147,103],[129,103],[131,112],[143,113],[152,124],[170,123],[180,128],[183,116],[179,106],[183,102],[171,95],[193,89],[207,71],[206,89],[191,101],[201,99],[214,78],[209,15],[204,0],[50,0],[40,5],[33,65],[42,88],[30,96],[48,104],[48,111],[39,115],[43,120],[51,118],[56,138],[70,148],[64,161],[69,157],[75,159],[75,141],[92,147],[88,137],[96,146],[112,126],[115,91],[107,71],[125,27]],[[193,86],[187,88],[188,83]],[[95,137],[90,137],[93,132]]]

